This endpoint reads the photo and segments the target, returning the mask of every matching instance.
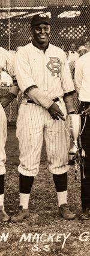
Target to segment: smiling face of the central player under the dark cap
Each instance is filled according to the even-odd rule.
[[[38,44],[43,44],[49,39],[50,25],[40,24],[38,26],[34,26],[32,27],[32,33],[34,36],[34,40],[38,42]]]

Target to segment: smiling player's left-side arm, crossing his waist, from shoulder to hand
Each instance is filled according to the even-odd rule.
[[[23,94],[38,105],[46,108],[53,119],[58,119],[58,117],[60,117],[65,120],[63,117],[64,114],[59,109],[58,105],[56,105],[53,100],[50,100],[49,97],[46,97],[44,93],[39,90],[37,85],[35,85],[35,82],[31,76],[31,68],[28,63],[28,57],[24,53],[23,49],[17,51],[16,53],[14,59],[14,69],[17,82]]]

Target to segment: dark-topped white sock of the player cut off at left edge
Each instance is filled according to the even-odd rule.
[[[0,175],[0,206],[4,210],[4,174]]]

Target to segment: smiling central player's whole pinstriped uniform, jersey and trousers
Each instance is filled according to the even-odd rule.
[[[15,73],[20,90],[37,85],[41,93],[56,102],[66,116],[62,98],[65,93],[74,91],[70,70],[64,51],[49,44],[46,52],[28,44],[16,53]],[[31,97],[33,100],[33,98]],[[46,140],[49,170],[62,174],[68,170],[69,137],[62,120],[53,120],[47,108],[28,103],[24,98],[17,119],[17,137],[20,148],[19,172],[25,176],[36,176],[40,164],[43,134]],[[42,107],[43,106],[43,107]],[[67,123],[66,123],[67,125]]]

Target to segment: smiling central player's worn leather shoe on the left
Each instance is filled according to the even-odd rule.
[[[23,209],[19,206],[19,211],[11,217],[11,222],[22,222],[23,218],[29,217],[28,209]]]

